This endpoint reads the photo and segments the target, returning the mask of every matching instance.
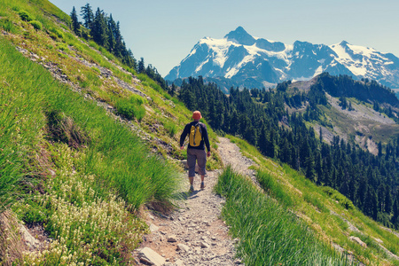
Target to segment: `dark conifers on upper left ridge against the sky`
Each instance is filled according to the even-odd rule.
[[[71,27],[76,35],[82,36],[86,40],[93,40],[98,45],[106,48],[115,57],[121,59],[121,62],[137,71],[138,74],[147,74],[150,78],[160,84],[164,90],[167,89],[168,83],[158,73],[157,69],[152,65],[145,67],[143,58],[137,62],[133,56],[133,52],[127,49],[126,43],[121,35],[121,27],[119,21],[113,20],[113,15],[109,16],[100,8],[94,13],[90,4],[81,7],[81,15],[84,20],[79,22],[75,8],[71,12]]]

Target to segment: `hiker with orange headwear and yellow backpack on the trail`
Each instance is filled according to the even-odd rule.
[[[180,149],[184,149],[184,139],[189,135],[190,142],[187,146],[187,165],[189,167],[190,191],[194,191],[195,162],[198,162],[199,174],[201,176],[201,190],[205,188],[204,178],[207,174],[205,165],[207,157],[210,156],[209,139],[207,137],[207,126],[200,122],[202,118],[200,111],[192,113],[194,121],[185,125],[182,135],[180,136]],[[207,145],[207,153],[205,153],[205,145]]]

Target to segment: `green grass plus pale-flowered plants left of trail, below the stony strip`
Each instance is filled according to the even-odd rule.
[[[29,254],[26,262],[128,263],[123,255],[144,231],[132,213],[145,204],[173,206],[176,168],[4,38],[0,51],[0,211],[20,200],[12,207],[20,218],[43,223],[56,239],[49,252]],[[44,178],[49,168],[57,178]],[[121,227],[106,227],[113,224]]]

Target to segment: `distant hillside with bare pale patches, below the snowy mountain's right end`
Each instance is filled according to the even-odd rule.
[[[283,85],[286,88],[283,89]],[[290,113],[309,113],[309,102],[294,102],[310,87],[325,92],[326,100],[317,109],[317,118],[309,119],[317,134],[322,130],[326,141],[332,137],[354,140],[365,150],[378,155],[378,144],[387,145],[399,134],[397,124],[399,100],[388,88],[373,81],[355,81],[348,76],[320,74],[308,82],[288,82],[278,85],[286,90]]]

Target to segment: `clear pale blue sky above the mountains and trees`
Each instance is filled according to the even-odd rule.
[[[50,0],[69,14],[89,3],[113,14],[136,59],[162,76],[184,59],[200,38],[223,38],[236,27],[250,35],[293,44],[340,43],[372,47],[399,57],[396,0]]]

